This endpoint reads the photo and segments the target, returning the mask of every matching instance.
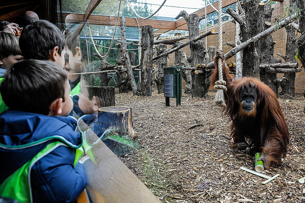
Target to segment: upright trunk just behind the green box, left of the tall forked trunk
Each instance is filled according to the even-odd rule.
[[[180,43],[180,42],[175,42]],[[190,63],[188,62],[186,58],[186,51],[175,51],[175,65],[181,66],[181,67],[189,67]],[[192,76],[190,70],[185,70],[182,68],[182,78],[185,80],[185,88],[184,93],[190,94],[192,93]]]

